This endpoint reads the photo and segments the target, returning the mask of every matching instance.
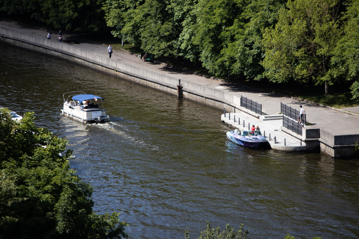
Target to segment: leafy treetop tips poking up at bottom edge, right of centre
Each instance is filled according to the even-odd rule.
[[[249,234],[248,230],[243,229],[243,224],[241,224],[238,231],[233,231],[233,228],[229,226],[229,224],[226,225],[226,230],[220,231],[219,227],[212,228],[207,221],[207,229],[205,231],[201,231],[201,235],[198,239],[247,239]],[[185,230],[185,239],[189,239],[190,234],[187,230]]]

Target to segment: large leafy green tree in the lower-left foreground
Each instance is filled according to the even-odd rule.
[[[59,152],[67,141],[0,110],[0,238],[127,238],[119,213],[93,212],[92,187]]]

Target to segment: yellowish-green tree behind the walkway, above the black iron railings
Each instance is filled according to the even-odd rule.
[[[288,0],[278,23],[263,35],[263,75],[273,82],[324,83],[328,95],[329,85],[338,80],[329,70],[342,37],[342,6],[340,0]]]

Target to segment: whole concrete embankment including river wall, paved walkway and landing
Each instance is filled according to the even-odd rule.
[[[54,35],[56,36],[56,32]],[[240,112],[236,118],[248,117],[248,123],[251,125],[260,124],[261,131],[265,130],[266,136],[270,133],[274,138],[278,134],[278,137],[276,136],[278,142],[282,142],[284,138],[288,139],[288,147],[280,148],[284,146],[283,142],[283,145],[282,143],[273,144],[272,148],[290,152],[302,151],[303,147],[295,148],[302,138],[305,142],[304,150],[317,150],[332,158],[359,157],[359,150],[355,151],[356,142],[359,142],[359,114],[310,104],[265,90],[225,83],[164,64],[141,62],[139,57],[126,52],[113,52],[112,58],[108,58],[107,46],[87,42],[78,38],[79,36],[66,32],[64,40],[77,37],[76,39],[80,39],[80,44],[59,43],[57,37],[48,40],[46,36],[47,33],[44,30],[0,20],[0,43],[93,68],[174,96],[178,94],[177,85],[181,85],[183,100],[191,100],[219,110],[225,107],[231,115],[235,110],[237,114],[239,109]],[[242,109],[241,95],[262,104],[262,111],[267,115],[259,115]],[[280,102],[296,109],[299,105],[303,105],[307,121],[313,125],[304,126],[302,135],[297,135],[282,127],[283,121],[278,115]],[[245,118],[243,119],[246,121]],[[228,122],[226,119],[222,120],[230,125],[236,124],[230,120]],[[258,123],[255,123],[256,120]],[[292,146],[290,146],[291,143]]]

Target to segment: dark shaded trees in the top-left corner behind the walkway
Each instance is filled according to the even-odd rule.
[[[99,31],[107,28],[99,0],[0,0],[8,14],[31,14],[57,29]]]

